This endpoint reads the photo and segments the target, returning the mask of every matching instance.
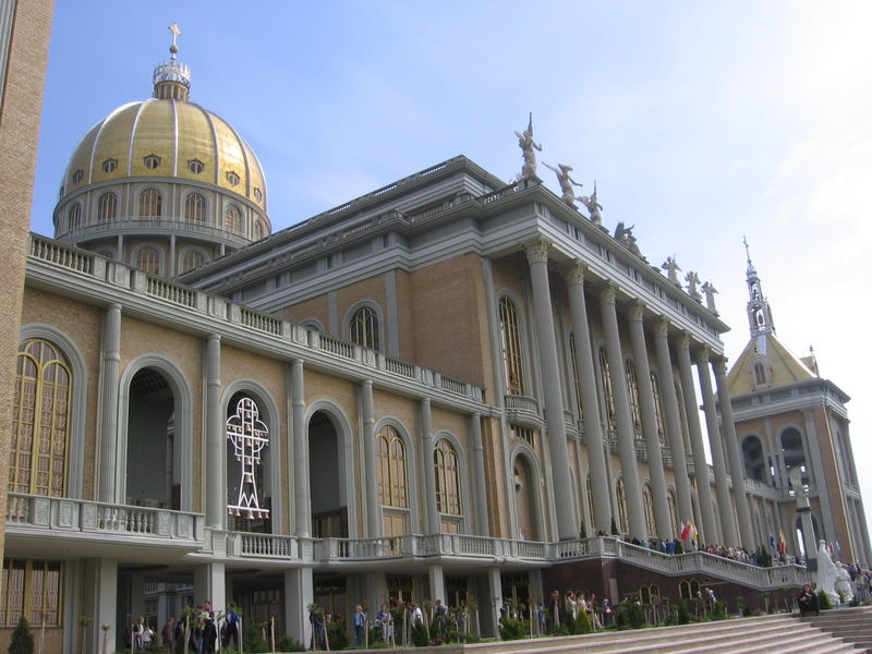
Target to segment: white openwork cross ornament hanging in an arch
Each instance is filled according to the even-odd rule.
[[[227,506],[228,513],[249,520],[268,517],[269,509],[262,509],[257,499],[254,471],[261,465],[261,450],[269,445],[269,429],[251,398],[242,398],[237,403],[237,412],[227,419],[227,439],[233,444],[237,461],[242,463],[239,497],[235,505]]]

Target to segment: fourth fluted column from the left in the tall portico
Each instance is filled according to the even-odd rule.
[[[630,308],[630,341],[633,347],[635,383],[639,387],[639,405],[642,413],[642,433],[647,447],[647,469],[651,475],[651,495],[654,500],[654,520],[657,536],[671,540],[673,525],[669,520],[669,502],[666,499],[666,475],[663,471],[663,452],[657,432],[657,411],[654,407],[654,388],[651,384],[651,367],[647,362],[645,330],[642,324],[644,306],[640,303]],[[653,534],[650,534],[653,535]]]

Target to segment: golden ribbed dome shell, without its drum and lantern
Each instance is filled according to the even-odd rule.
[[[251,147],[222,118],[179,99],[119,107],[82,138],[61,198],[128,178],[173,178],[220,186],[266,213],[266,179]]]

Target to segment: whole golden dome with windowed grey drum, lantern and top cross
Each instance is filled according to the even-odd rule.
[[[270,233],[266,179],[223,119],[187,101],[189,68],[155,69],[154,97],[123,105],[73,152],[57,239],[171,277]]]

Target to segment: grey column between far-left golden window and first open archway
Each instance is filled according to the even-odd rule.
[[[118,376],[121,366],[121,305],[106,307],[102,323],[102,377],[100,378],[100,476],[97,499],[109,504],[119,497],[118,480]]]

